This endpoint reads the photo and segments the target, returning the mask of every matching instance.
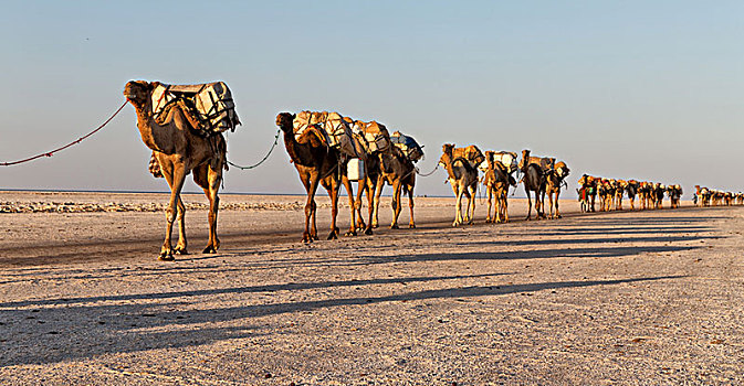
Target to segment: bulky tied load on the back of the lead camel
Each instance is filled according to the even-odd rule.
[[[198,126],[197,131],[209,137],[228,129],[234,131],[240,125],[230,88],[224,82],[200,85],[167,85],[155,82],[153,89],[153,112],[155,121],[163,125],[167,112],[174,106],[184,111]]]

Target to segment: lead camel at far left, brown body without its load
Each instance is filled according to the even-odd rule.
[[[222,170],[227,162],[227,142],[221,133],[202,137],[196,132],[197,118],[179,104],[170,105],[164,112],[163,125],[155,121],[151,93],[156,83],[132,81],[124,86],[124,96],[137,112],[137,129],[143,142],[153,150],[160,172],[170,186],[170,201],[166,208],[166,238],[158,259],[174,260],[174,254],[186,255],[186,206],[181,201],[181,189],[186,175],[193,173],[197,183],[209,200],[209,242],[205,254],[214,254],[220,247],[217,237],[217,212],[220,199],[218,191],[222,182]],[[178,244],[171,244],[174,222],[178,221]]]

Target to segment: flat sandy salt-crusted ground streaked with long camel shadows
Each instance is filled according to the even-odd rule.
[[[515,221],[492,225],[479,202],[476,225],[451,228],[453,199],[421,199],[417,229],[303,245],[302,201],[223,195],[220,253],[174,262],[156,260],[160,212],[0,213],[2,384],[744,382],[742,207],[581,215],[565,201],[564,218],[524,222],[514,200]],[[191,251],[207,235],[195,207]]]

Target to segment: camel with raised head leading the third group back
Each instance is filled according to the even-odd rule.
[[[462,158],[453,157],[454,144],[444,143],[442,146],[442,157],[439,159],[439,164],[444,167],[449,176],[452,192],[457,197],[457,213],[452,226],[458,226],[463,223],[472,224],[475,216],[475,194],[478,192],[478,169],[472,167],[470,162]],[[470,190],[470,191],[469,191]],[[471,194],[472,193],[472,194]],[[468,197],[468,208],[464,216],[462,215],[462,196]],[[471,214],[472,207],[472,214]]]

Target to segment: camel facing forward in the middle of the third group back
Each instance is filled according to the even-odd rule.
[[[516,186],[516,180],[510,174],[507,167],[501,163],[501,161],[494,160],[496,154],[496,152],[490,150],[485,152],[488,168],[483,175],[483,185],[485,185],[486,192],[489,193],[489,210],[486,212],[485,222],[509,223],[509,186]],[[494,197],[496,207],[494,216],[491,217],[491,207]]]

